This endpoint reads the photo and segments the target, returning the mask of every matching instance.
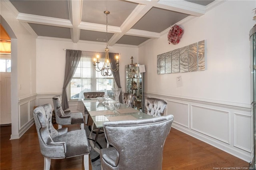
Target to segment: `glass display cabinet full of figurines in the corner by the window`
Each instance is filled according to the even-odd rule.
[[[142,111],[143,108],[143,73],[140,72],[139,64],[126,65],[125,91],[135,95],[134,108]]]

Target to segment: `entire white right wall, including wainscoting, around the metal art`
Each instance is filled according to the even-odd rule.
[[[168,102],[173,127],[248,162],[253,140],[249,31],[255,6],[255,1],[225,1],[180,22],[184,35],[177,45],[168,44],[167,31],[139,47],[139,63],[146,65],[144,95]],[[206,40],[205,71],[157,74],[157,55],[201,40]]]

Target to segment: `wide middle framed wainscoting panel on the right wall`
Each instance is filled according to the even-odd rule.
[[[229,122],[229,113],[226,111],[191,105],[191,129],[228,144]]]

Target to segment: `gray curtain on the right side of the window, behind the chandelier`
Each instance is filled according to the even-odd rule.
[[[115,59],[115,56],[116,55],[119,55],[119,53],[108,53],[108,57],[109,57],[109,60],[110,60],[110,64],[111,64],[111,67],[112,69],[116,69],[116,59]],[[118,88],[122,88],[121,87],[121,83],[120,83],[120,75],[119,75],[119,69],[118,71],[114,72],[113,71],[113,77],[116,81],[116,85]],[[122,91],[120,92],[120,95],[119,95],[119,102],[120,103],[123,103],[123,100],[122,100]]]

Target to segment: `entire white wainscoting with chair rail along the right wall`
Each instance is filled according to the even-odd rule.
[[[246,162],[252,161],[253,107],[250,103],[215,101],[146,91],[143,95],[144,98],[154,97],[167,101],[166,113],[174,115],[172,128]],[[188,123],[185,120],[188,120]]]

